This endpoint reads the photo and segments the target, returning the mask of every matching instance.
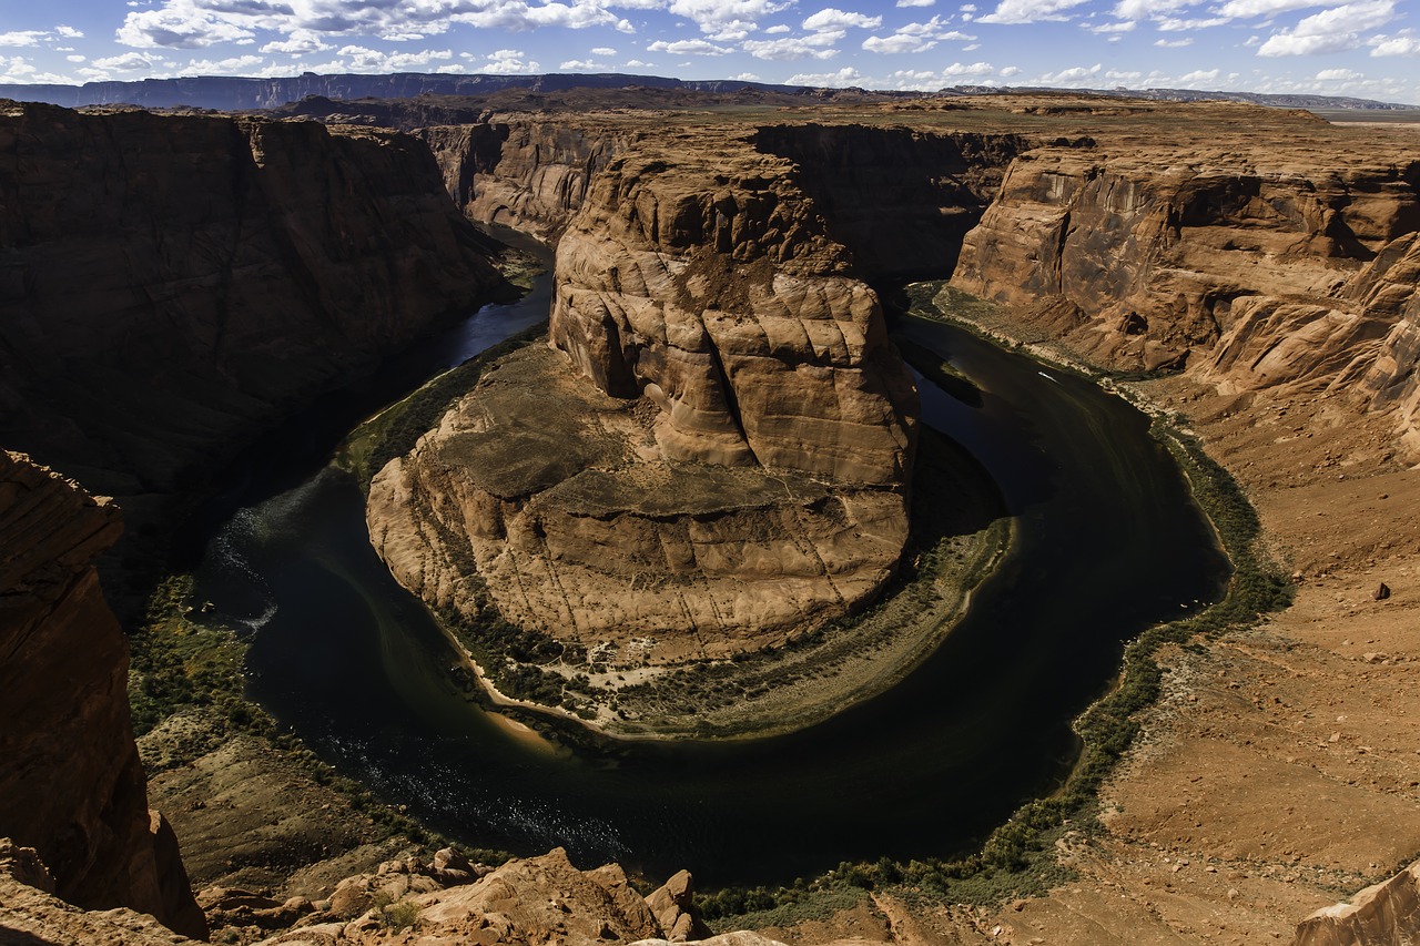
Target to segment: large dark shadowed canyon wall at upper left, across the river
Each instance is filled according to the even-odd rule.
[[[412,138],[0,108],[0,442],[170,491],[498,277]]]

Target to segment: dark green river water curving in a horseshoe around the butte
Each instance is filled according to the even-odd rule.
[[[484,310],[467,338],[491,344],[542,314],[545,297]],[[957,852],[1058,784],[1069,720],[1108,685],[1122,642],[1216,595],[1225,562],[1123,401],[947,325],[899,330],[981,389],[968,406],[923,382],[923,415],[997,479],[1017,553],[922,668],[819,726],[582,754],[510,734],[450,678],[447,645],[375,557],[359,491],[334,469],[236,511],[199,594],[254,629],[253,697],[469,844],[564,845],[584,866],[690,868],[709,885]]]

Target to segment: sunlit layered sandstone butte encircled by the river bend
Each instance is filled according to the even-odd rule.
[[[486,374],[375,477],[372,540],[426,599],[659,662],[781,642],[893,574],[916,393],[876,295],[782,161],[690,155],[596,178],[559,354]]]

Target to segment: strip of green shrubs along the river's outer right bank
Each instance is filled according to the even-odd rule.
[[[937,284],[909,287],[913,311],[941,318],[933,304]],[[980,300],[976,304],[983,304]],[[909,352],[909,357],[912,352]],[[922,368],[919,368],[920,371]],[[990,834],[981,849],[961,858],[900,864],[842,864],[836,871],[792,886],[724,889],[700,898],[703,913],[719,929],[731,929],[765,916],[799,916],[816,898],[852,889],[893,889],[913,898],[953,903],[1001,903],[1015,896],[1041,895],[1071,874],[1055,858],[1055,842],[1071,832],[1098,830],[1098,794],[1103,780],[1139,733],[1139,713],[1157,697],[1163,670],[1156,659],[1166,645],[1189,645],[1197,638],[1254,626],[1264,615],[1287,608],[1292,585],[1258,548],[1257,510],[1237,480],[1198,442],[1174,423],[1156,418],[1150,433],[1174,456],[1233,562],[1233,577],[1221,601],[1200,614],[1149,628],[1125,648],[1115,687],[1075,720],[1081,754],[1065,784],[1051,797],[1030,801]],[[753,920],[751,920],[753,918]],[[771,920],[782,922],[782,920]]]

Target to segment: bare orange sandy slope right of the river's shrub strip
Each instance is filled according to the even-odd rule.
[[[957,315],[1005,344],[1049,344],[985,307]],[[1342,392],[1220,395],[1184,376],[1112,384],[1187,425],[1233,476],[1257,510],[1257,544],[1285,562],[1292,605],[1156,652],[1159,695],[1100,787],[1099,824],[1051,839],[1062,874],[1039,895],[964,909],[917,902],[892,926],[880,908],[780,920],[770,935],[1289,942],[1302,918],[1420,852],[1420,477],[1397,462],[1389,418],[1358,415]],[[1389,597],[1377,598],[1382,582]]]

